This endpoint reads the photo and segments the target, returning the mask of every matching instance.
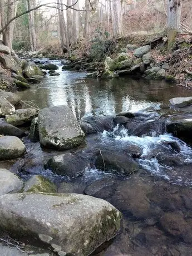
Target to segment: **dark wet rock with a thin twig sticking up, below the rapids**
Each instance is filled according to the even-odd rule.
[[[124,175],[130,175],[139,170],[139,166],[129,155],[110,150],[101,150],[98,153],[95,166],[100,170],[112,171]]]

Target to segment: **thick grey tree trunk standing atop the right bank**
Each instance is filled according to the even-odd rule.
[[[173,48],[179,32],[182,0],[168,0],[168,50]]]

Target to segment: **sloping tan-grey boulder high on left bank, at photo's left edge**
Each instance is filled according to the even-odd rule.
[[[9,56],[5,53],[2,53],[0,55],[0,62],[2,63],[4,68],[11,70],[13,72],[16,72],[18,75],[22,75],[21,67],[11,56]]]

